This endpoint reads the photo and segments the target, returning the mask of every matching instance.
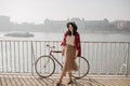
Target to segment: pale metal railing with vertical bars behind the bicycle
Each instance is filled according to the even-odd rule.
[[[35,60],[49,52],[47,44],[62,48],[60,41],[0,40],[0,72],[34,74]],[[130,75],[130,42],[83,41],[81,52],[90,62],[89,74]],[[55,56],[63,62],[62,55]],[[57,66],[55,73],[60,72]]]

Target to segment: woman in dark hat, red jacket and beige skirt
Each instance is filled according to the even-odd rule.
[[[62,83],[63,76],[66,75],[66,72],[69,74],[69,82],[72,84],[72,71],[78,71],[77,63],[75,59],[80,56],[81,47],[80,47],[80,35],[77,32],[77,25],[75,23],[67,23],[68,30],[64,33],[64,39],[62,41],[63,46],[63,55],[65,57],[65,62],[63,67],[62,74],[56,86],[60,86]]]

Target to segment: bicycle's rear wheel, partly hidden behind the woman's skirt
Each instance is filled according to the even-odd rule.
[[[76,78],[84,77],[89,73],[90,64],[84,57],[77,57],[78,71],[72,71],[73,76]]]

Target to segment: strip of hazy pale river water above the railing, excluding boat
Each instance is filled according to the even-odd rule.
[[[16,37],[4,37],[8,32],[0,32],[0,39],[4,40],[35,40],[35,41],[62,41],[64,32],[30,32],[35,37],[32,38],[16,38]],[[81,33],[81,41],[108,41],[108,42],[130,42],[130,34],[121,33]]]

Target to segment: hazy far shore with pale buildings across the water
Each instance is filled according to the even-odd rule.
[[[63,32],[66,30],[66,24],[68,22],[75,22],[78,26],[78,30],[84,31],[113,31],[113,30],[129,30],[130,20],[116,20],[108,22],[107,18],[102,20],[86,20],[84,18],[67,18],[66,20],[51,20],[44,19],[43,24],[14,24],[10,22],[10,17],[0,16],[0,31],[40,31],[40,32]]]

